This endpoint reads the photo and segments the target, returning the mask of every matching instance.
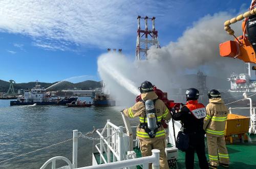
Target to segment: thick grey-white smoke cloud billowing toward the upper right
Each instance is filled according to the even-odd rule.
[[[207,15],[188,28],[177,42],[170,42],[161,49],[148,51],[148,60],[157,60],[169,66],[172,71],[184,73],[186,70],[204,68],[208,74],[219,76],[230,74],[231,67],[242,66],[239,60],[223,58],[219,55],[219,44],[233,40],[224,31],[224,21],[232,18],[227,13]],[[241,35],[241,23],[232,24],[236,35]],[[242,66],[243,67],[243,66]]]

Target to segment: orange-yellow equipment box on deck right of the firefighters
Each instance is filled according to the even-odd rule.
[[[228,114],[225,135],[247,133],[249,130],[249,122],[249,117]]]

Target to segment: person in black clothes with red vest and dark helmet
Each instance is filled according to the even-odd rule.
[[[194,168],[195,151],[199,159],[200,168],[209,168],[205,156],[205,131],[203,129],[204,117],[206,117],[205,106],[198,103],[199,91],[190,88],[186,91],[186,105],[173,113],[173,119],[181,121],[182,129],[189,136],[189,147],[185,151],[186,168]]]

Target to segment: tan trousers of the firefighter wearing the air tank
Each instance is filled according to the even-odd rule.
[[[140,140],[140,151],[143,157],[151,156],[153,149],[160,150],[160,168],[168,169],[168,162],[165,154],[165,139],[139,139]],[[150,168],[152,166],[150,165]]]

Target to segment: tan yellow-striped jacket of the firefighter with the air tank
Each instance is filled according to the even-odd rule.
[[[157,98],[158,96],[156,95],[155,92],[147,92],[147,93],[141,94],[141,99],[144,101],[149,99],[155,100]],[[169,109],[166,107],[166,105],[162,100],[160,99],[156,100],[155,109],[156,109],[157,122],[161,122],[162,119],[164,119],[165,121],[170,120]],[[144,122],[147,123],[145,105],[142,101],[138,101],[132,107],[124,109],[123,113],[126,117],[130,117],[130,118],[139,117],[140,123],[144,123]],[[151,139],[151,140],[160,139],[160,138],[162,139],[162,138],[165,138],[165,130],[161,125],[156,132],[155,138],[150,138],[150,136],[145,132],[145,130],[141,128],[139,125],[137,127],[137,137],[139,139]]]

